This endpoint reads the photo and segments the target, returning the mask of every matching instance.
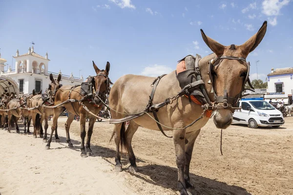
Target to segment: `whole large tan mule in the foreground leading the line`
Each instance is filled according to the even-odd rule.
[[[209,100],[212,102],[215,95],[217,96],[217,101],[214,102],[217,109],[213,115],[213,122],[219,129],[226,129],[232,123],[232,106],[236,105],[237,99],[235,98],[241,95],[245,82],[248,79],[249,64],[246,63],[245,59],[261,42],[266,29],[267,21],[244,44],[232,44],[229,46],[224,46],[209,38],[201,29],[203,40],[214,53],[200,59],[199,68]],[[209,62],[213,64],[210,72]],[[210,82],[211,78],[213,78],[213,83]],[[109,96],[110,108],[113,109],[111,110],[112,117],[118,119],[127,116],[121,113],[143,112],[152,91],[150,84],[153,80],[154,78],[138,75],[125,75],[119,78],[112,86]],[[164,102],[167,98],[176,96],[179,91],[181,91],[181,87],[176,78],[176,72],[173,71],[161,78],[157,85],[153,102],[154,104]],[[228,98],[228,103],[226,102],[226,104],[223,101],[225,97]],[[220,98],[222,98],[222,102],[219,100]],[[230,109],[225,109],[228,107]],[[193,126],[184,127],[199,118],[202,112],[201,105],[189,101],[185,96],[177,98],[170,102],[170,104],[167,104],[167,106],[160,108],[157,112],[161,123],[177,129],[172,131],[172,135],[178,168],[178,189],[181,195],[194,194],[194,186],[189,178],[189,164],[195,139],[199,135],[200,129],[208,122],[209,117],[204,115]],[[150,116],[153,115],[150,114]],[[113,134],[116,144],[116,171],[122,171],[119,154],[121,144],[121,147],[125,146],[128,152],[129,170],[137,172],[136,158],[132,150],[131,140],[139,126],[150,130],[159,130],[156,122],[147,115],[132,119],[127,129],[125,122],[115,124]],[[164,131],[170,131],[166,127],[162,128]]]

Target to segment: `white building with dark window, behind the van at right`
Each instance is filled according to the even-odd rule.
[[[278,68],[273,69],[268,74],[268,90],[265,95],[265,100],[275,99],[280,101],[282,98],[285,104],[292,104],[293,94],[293,68]]]

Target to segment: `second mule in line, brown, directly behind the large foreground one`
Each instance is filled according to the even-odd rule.
[[[60,107],[54,108],[53,113],[53,123],[51,128],[51,135],[48,139],[46,149],[50,149],[50,143],[52,140],[52,135],[57,128],[57,120],[59,115],[63,112],[64,108],[68,111],[68,118],[65,122],[65,130],[66,130],[66,141],[68,143],[68,146],[71,148],[73,147],[73,144],[71,143],[70,136],[69,136],[69,128],[70,124],[72,123],[74,119],[74,115],[80,116],[80,125],[81,125],[81,156],[87,157],[92,155],[92,151],[90,149],[90,139],[91,135],[93,133],[93,127],[94,123],[97,120],[97,117],[94,117],[86,112],[86,110],[83,108],[83,103],[89,110],[95,115],[98,115],[101,108],[102,108],[102,101],[105,102],[105,97],[109,89],[109,70],[110,70],[110,63],[107,62],[105,70],[100,70],[96,64],[93,61],[93,67],[96,72],[95,77],[91,77],[91,80],[89,83],[91,83],[89,86],[90,91],[92,91],[92,98],[84,98],[86,96],[83,96],[83,88],[80,85],[72,86],[72,85],[65,85],[62,86],[57,92],[55,97],[55,105],[61,104],[64,101],[68,99],[75,99],[75,102],[68,102],[63,104]],[[85,120],[86,117],[89,117],[89,123],[88,123],[88,130],[87,130],[87,140],[86,145],[84,148],[84,138],[86,135],[85,132]],[[85,150],[86,149],[86,150]]]

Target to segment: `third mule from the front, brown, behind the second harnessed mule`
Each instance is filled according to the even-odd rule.
[[[61,81],[61,74],[58,75],[57,79],[53,78],[53,75],[50,74],[50,80],[51,83],[48,86],[48,89],[46,91],[46,94],[42,93],[35,93],[35,90],[33,90],[33,97],[30,99],[29,107],[34,108],[36,106],[40,105],[52,105],[54,104],[55,100],[55,92],[59,90],[61,87],[61,84],[59,83]],[[47,98],[47,96],[49,97]],[[40,134],[40,137],[43,137],[43,142],[47,142],[47,129],[48,129],[48,117],[53,116],[53,108],[48,107],[39,107],[38,109],[32,110],[32,119],[33,119],[33,125],[34,125],[34,133],[33,137],[37,138],[37,135]],[[42,129],[42,121],[45,120],[44,129],[45,132],[43,133]],[[57,133],[57,127],[55,132],[55,141],[60,142],[60,138],[58,137]]]

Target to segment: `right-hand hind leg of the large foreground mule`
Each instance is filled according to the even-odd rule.
[[[126,130],[126,149],[129,156],[129,162],[130,166],[128,167],[129,171],[132,173],[137,172],[137,166],[136,166],[136,158],[132,150],[131,141],[134,133],[138,129],[139,125],[136,124],[133,120],[130,120],[129,125]]]

